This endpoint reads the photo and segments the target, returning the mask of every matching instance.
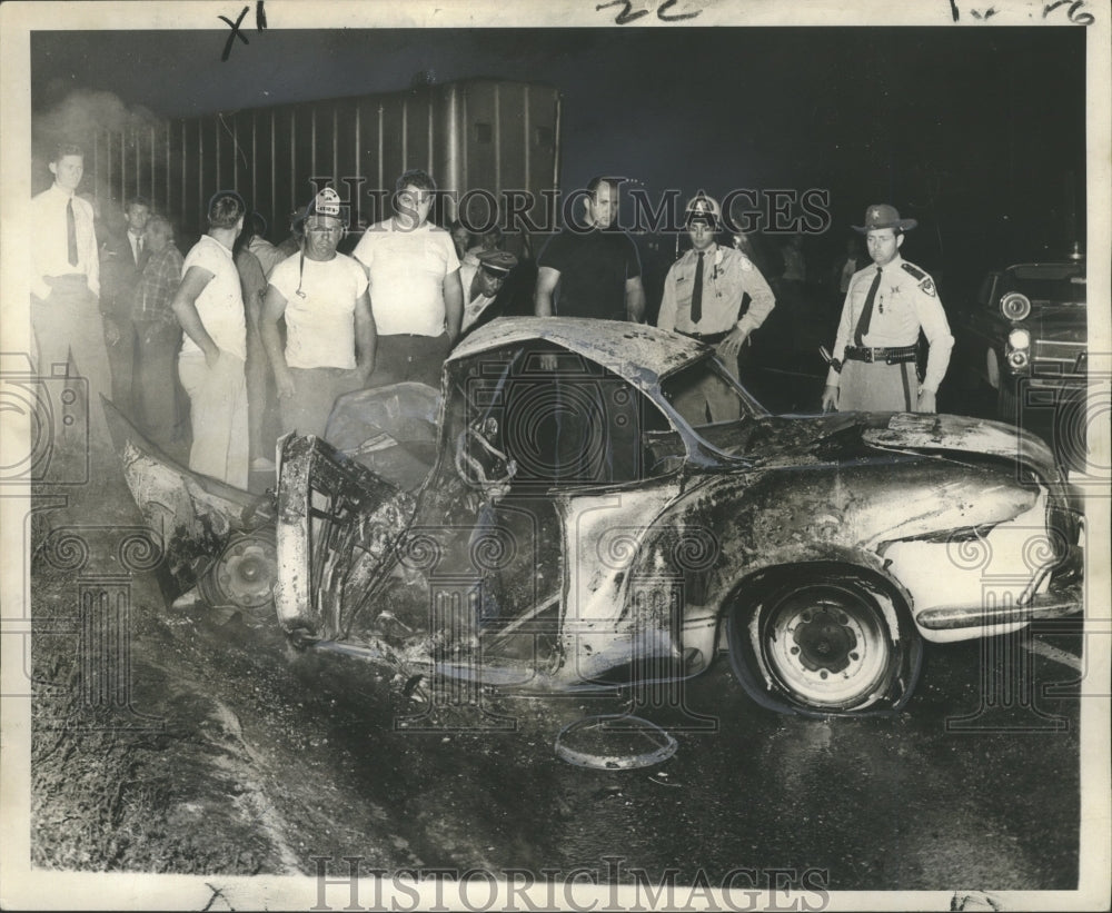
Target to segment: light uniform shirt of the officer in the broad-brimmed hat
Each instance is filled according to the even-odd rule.
[[[870,264],[850,280],[834,340],[834,357],[841,361],[845,360],[846,347],[856,345],[854,333],[857,320],[875,276],[876,265]],[[950,334],[950,324],[934,280],[897,255],[881,269],[881,284],[873,300],[868,333],[862,337],[861,345],[867,348],[914,346],[919,343],[920,328],[931,344],[922,386],[924,390],[937,393],[950,365],[954,337]],[[838,373],[833,367],[827,373],[826,384],[838,386]]]

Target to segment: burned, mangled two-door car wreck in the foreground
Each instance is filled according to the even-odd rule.
[[[736,420],[707,424],[706,385]],[[274,498],[112,424],[166,587],[407,676],[594,691],[725,651],[765,706],[876,713],[911,696],[924,641],[1081,608],[1079,502],[1037,438],[772,416],[712,349],[652,327],[496,320],[439,395],[363,390],[337,403],[332,444],[279,441]]]

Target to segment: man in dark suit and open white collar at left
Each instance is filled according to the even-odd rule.
[[[147,262],[143,232],[150,218],[150,204],[145,197],[132,197],[125,207],[123,217],[127,229],[109,236],[100,250],[100,304],[112,369],[112,403],[135,419],[138,417],[133,391],[138,338],[131,322],[131,304]]]

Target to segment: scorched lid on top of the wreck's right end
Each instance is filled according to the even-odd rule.
[[[1050,448],[1034,435],[980,418],[919,413],[834,413],[770,416],[702,428],[716,448],[759,462],[812,457],[853,459],[877,449],[934,454],[985,454],[1019,458],[1043,478],[1058,469]]]

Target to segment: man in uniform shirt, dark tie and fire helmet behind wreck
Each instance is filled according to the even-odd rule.
[[[692,249],[668,270],[656,325],[714,346],[736,378],[742,346],[772,312],[776,299],[748,257],[715,241],[721,218],[717,200],[699,191],[688,201],[685,215]],[[739,415],[737,397],[724,396],[717,385],[701,385],[691,393],[697,401],[689,404],[689,414],[698,424]]]

